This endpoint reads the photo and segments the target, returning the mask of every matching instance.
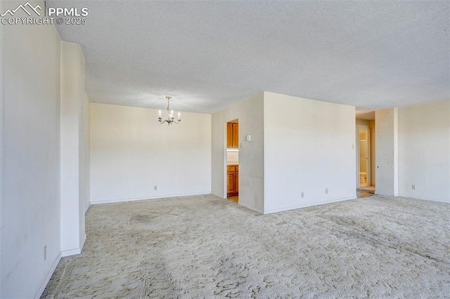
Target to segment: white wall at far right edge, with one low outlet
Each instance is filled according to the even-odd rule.
[[[450,100],[399,108],[399,193],[450,203]]]

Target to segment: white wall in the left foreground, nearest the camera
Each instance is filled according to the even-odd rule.
[[[60,39],[52,25],[0,27],[0,297],[33,298],[60,259]]]

